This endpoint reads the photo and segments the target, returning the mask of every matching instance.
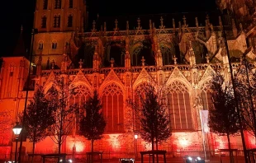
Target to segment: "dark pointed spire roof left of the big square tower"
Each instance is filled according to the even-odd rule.
[[[17,40],[16,47],[13,50],[14,56],[27,56],[22,33],[23,33],[23,27],[21,26],[21,34],[19,36],[19,39]]]

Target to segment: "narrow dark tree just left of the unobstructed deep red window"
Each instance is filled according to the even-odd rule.
[[[88,100],[86,100],[83,109],[84,111],[81,114],[79,132],[91,141],[92,161],[93,142],[102,139],[102,134],[104,133],[107,124],[102,114],[101,100],[98,98],[97,91],[94,91],[93,96],[90,96]]]

